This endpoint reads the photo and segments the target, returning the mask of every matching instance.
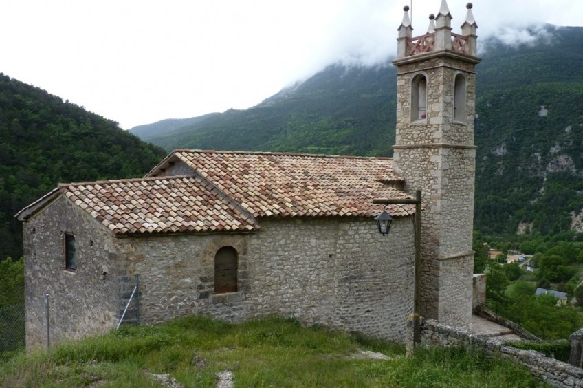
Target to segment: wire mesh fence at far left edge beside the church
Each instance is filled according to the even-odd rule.
[[[0,356],[25,347],[25,305],[0,307]]]

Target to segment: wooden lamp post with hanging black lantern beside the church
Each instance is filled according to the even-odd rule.
[[[386,206],[391,204],[414,204],[415,205],[415,218],[413,222],[415,224],[415,266],[413,268],[415,285],[413,288],[413,351],[419,343],[419,307],[420,307],[420,295],[419,295],[419,285],[420,285],[420,272],[421,272],[421,190],[415,192],[415,199],[391,199],[391,198],[377,198],[373,200],[373,204],[384,204],[383,211],[380,215],[375,217],[377,221],[377,226],[379,232],[386,236],[389,229],[391,228],[391,222],[393,218],[391,215],[386,213]],[[388,216],[388,219],[385,217]],[[385,226],[383,226],[385,223]],[[384,229],[382,229],[384,228]],[[384,233],[382,230],[386,230]]]

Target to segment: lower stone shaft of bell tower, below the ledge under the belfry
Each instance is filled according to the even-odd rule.
[[[408,171],[406,191],[420,189],[426,204],[421,213],[421,314],[467,325],[472,313],[475,150],[395,148],[397,158],[399,168]]]

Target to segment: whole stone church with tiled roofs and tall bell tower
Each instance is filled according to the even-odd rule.
[[[20,211],[28,348],[45,345],[47,316],[53,342],[109,332],[131,294],[141,323],[278,314],[404,342],[417,294],[421,316],[468,325],[471,4],[461,34],[451,21],[442,0],[428,32],[412,36],[405,8],[393,158],[177,149],[142,179],[59,184]],[[416,272],[415,207],[386,206],[384,236],[373,200],[417,189]]]

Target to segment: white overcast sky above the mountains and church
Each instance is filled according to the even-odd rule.
[[[448,0],[454,32],[467,0]],[[582,25],[581,0],[475,0],[478,42]],[[382,63],[410,0],[1,0],[0,72],[129,129],[246,109],[337,61]],[[412,0],[414,34],[441,0]],[[500,34],[500,31],[504,31]]]

